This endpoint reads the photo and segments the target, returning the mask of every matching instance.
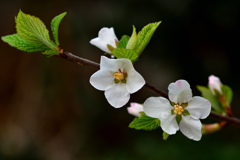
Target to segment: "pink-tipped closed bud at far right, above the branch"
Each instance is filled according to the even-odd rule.
[[[214,75],[208,77],[208,84],[209,88],[211,89],[212,93],[216,95],[215,90],[217,90],[220,94],[222,94],[222,83],[220,79]]]

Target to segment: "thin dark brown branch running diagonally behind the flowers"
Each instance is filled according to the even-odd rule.
[[[57,55],[57,57],[61,57],[63,59],[67,59],[67,60],[69,60],[71,62],[74,62],[74,63],[76,63],[78,65],[81,65],[81,66],[86,65],[86,66],[95,67],[97,69],[100,68],[100,64],[99,63],[96,63],[96,62],[90,61],[88,59],[84,59],[84,58],[78,57],[78,56],[73,55],[72,53],[69,53],[69,52],[62,52],[59,55]],[[149,84],[148,82],[146,82],[145,87],[147,87],[150,90],[156,92],[160,96],[163,96],[163,97],[168,99],[168,94],[167,93],[165,93],[164,91],[159,90],[158,88],[156,88],[155,86]],[[227,123],[231,123],[231,124],[235,124],[235,125],[240,126],[240,120],[235,118],[235,117],[226,117],[226,116],[222,116],[220,114],[216,114],[216,113],[213,113],[213,112],[211,112],[209,116],[212,117],[212,118],[221,120],[221,121],[226,121]]]

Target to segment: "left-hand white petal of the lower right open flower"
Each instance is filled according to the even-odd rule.
[[[143,104],[143,110],[149,117],[159,118],[162,113],[171,113],[173,107],[163,97],[150,97]]]

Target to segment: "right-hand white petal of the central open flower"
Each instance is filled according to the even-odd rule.
[[[134,69],[128,72],[126,89],[129,93],[137,92],[139,89],[143,87],[145,84],[145,80],[143,77]]]

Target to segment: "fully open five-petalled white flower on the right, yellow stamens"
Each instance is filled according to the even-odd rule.
[[[202,97],[192,97],[190,85],[178,80],[168,86],[168,96],[172,103],[163,97],[150,97],[143,104],[149,117],[159,118],[163,131],[175,134],[180,131],[190,139],[200,140],[202,124],[211,111],[211,103]],[[179,121],[177,121],[179,119]]]

